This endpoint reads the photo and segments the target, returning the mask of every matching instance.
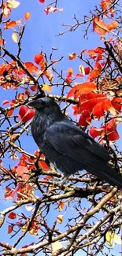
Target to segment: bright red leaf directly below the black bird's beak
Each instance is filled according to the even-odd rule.
[[[18,117],[24,123],[29,121],[35,115],[34,109],[29,109],[28,106],[20,106]]]

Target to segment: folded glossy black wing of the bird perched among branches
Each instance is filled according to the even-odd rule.
[[[96,143],[91,136],[72,124],[72,122],[60,121],[46,129],[46,139],[60,154],[67,155],[75,161],[81,162],[83,158],[93,155],[109,161],[108,151],[102,145]],[[87,154],[87,155],[86,155]],[[97,158],[98,157],[98,158]]]

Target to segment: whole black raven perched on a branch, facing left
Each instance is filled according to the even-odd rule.
[[[122,176],[109,165],[108,151],[65,117],[53,98],[33,100],[28,106],[35,108],[31,124],[35,143],[65,176],[85,169],[122,188]]]

